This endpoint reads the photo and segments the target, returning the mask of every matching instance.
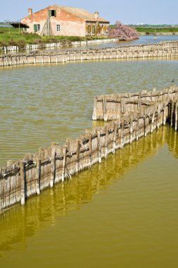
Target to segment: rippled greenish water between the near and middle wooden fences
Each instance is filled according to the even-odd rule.
[[[1,68],[0,166],[92,128],[96,95],[160,90],[176,84],[177,73],[177,59]]]

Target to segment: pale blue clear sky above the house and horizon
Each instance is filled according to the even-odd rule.
[[[0,21],[20,20],[27,16],[27,8],[35,12],[51,4],[84,8],[91,13],[99,11],[110,23],[120,20],[128,24],[178,24],[177,0],[1,0]]]

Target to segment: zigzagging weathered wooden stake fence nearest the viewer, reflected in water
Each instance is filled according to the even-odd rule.
[[[152,94],[142,92],[129,95],[129,101],[124,105],[122,100],[128,99],[126,95],[120,95],[120,99],[119,95],[115,95],[118,102],[112,104],[117,105],[117,109],[112,107],[110,111],[120,114],[116,121],[86,130],[80,138],[67,140],[65,145],[53,143],[48,148],[39,149],[36,154],[25,155],[20,161],[8,161],[6,168],[0,169],[0,209],[18,202],[25,204],[27,197],[39,195],[44,188],[53,187],[54,183],[63,182],[65,178],[71,178],[96,162],[100,163],[103,157],[107,158],[111,152],[115,153],[124,145],[152,133],[155,128],[165,125],[166,121],[177,130],[177,95],[178,89],[175,87]],[[139,100],[136,99],[138,96]],[[104,104],[101,114],[109,111],[110,102],[107,100],[105,97],[101,102]],[[97,107],[101,108],[101,105]],[[94,111],[94,114],[97,112]],[[103,118],[106,120],[105,114]]]

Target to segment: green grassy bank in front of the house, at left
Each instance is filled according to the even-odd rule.
[[[63,41],[70,43],[73,41],[84,41],[91,39],[106,39],[106,37],[77,37],[77,36],[56,36],[56,37],[41,37],[35,33],[23,32],[15,28],[0,27],[0,47],[18,46],[23,48],[25,44],[46,44]]]

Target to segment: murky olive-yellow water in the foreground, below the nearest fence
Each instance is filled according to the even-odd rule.
[[[127,145],[1,215],[1,267],[176,268],[177,133]]]

